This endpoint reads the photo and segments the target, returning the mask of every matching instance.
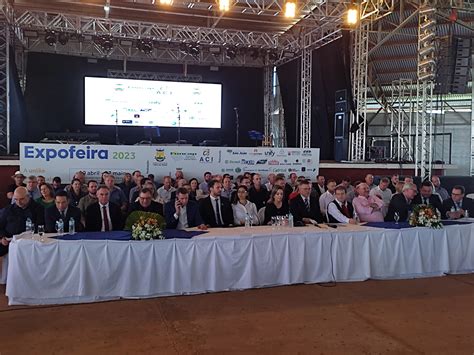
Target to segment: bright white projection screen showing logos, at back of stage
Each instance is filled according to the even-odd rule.
[[[84,78],[86,125],[221,128],[221,84]]]

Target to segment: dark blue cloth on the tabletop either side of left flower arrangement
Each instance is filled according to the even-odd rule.
[[[165,239],[190,239],[196,235],[207,233],[205,231],[183,231],[177,229],[165,229],[163,235]],[[132,233],[130,231],[112,231],[112,232],[79,232],[75,234],[64,234],[54,237],[60,240],[131,240]]]

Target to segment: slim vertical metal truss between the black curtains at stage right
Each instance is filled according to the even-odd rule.
[[[313,51],[303,49],[301,56],[300,148],[311,148],[311,80]]]

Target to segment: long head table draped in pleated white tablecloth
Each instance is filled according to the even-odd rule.
[[[256,287],[474,272],[474,224],[443,229],[254,227],[192,239],[10,244],[10,305],[64,304]]]

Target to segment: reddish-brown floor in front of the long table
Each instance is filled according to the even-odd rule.
[[[0,328],[1,355],[472,355],[474,274],[52,307],[3,295]]]

